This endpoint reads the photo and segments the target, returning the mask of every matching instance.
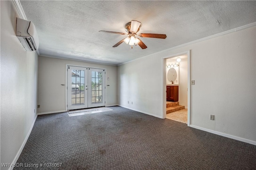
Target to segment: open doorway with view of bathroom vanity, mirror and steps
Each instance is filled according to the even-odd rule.
[[[163,58],[163,117],[190,126],[190,51]]]

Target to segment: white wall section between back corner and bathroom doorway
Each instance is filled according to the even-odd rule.
[[[137,59],[120,65],[118,67],[119,105],[161,117],[161,65],[162,60],[155,57]]]

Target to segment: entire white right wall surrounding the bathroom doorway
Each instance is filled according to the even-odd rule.
[[[190,73],[195,85],[190,93],[190,124],[255,144],[255,33],[253,26],[120,65],[119,104],[162,117],[162,57],[191,50]]]

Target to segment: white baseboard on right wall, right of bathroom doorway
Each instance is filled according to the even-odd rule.
[[[231,138],[231,139],[234,139],[234,140],[239,140],[241,142],[246,142],[246,143],[249,143],[249,144],[256,145],[256,141],[253,141],[253,140],[240,138],[240,137],[237,137],[237,136],[233,136],[233,135],[222,133],[222,132],[217,132],[215,130],[210,130],[210,129],[198,127],[198,126],[195,126],[195,125],[190,125],[190,127],[196,128],[196,129],[199,129],[199,130],[203,130],[203,131],[206,131],[206,132],[210,132],[210,133],[213,133],[213,134],[218,134],[220,136],[224,136],[224,137]]]

